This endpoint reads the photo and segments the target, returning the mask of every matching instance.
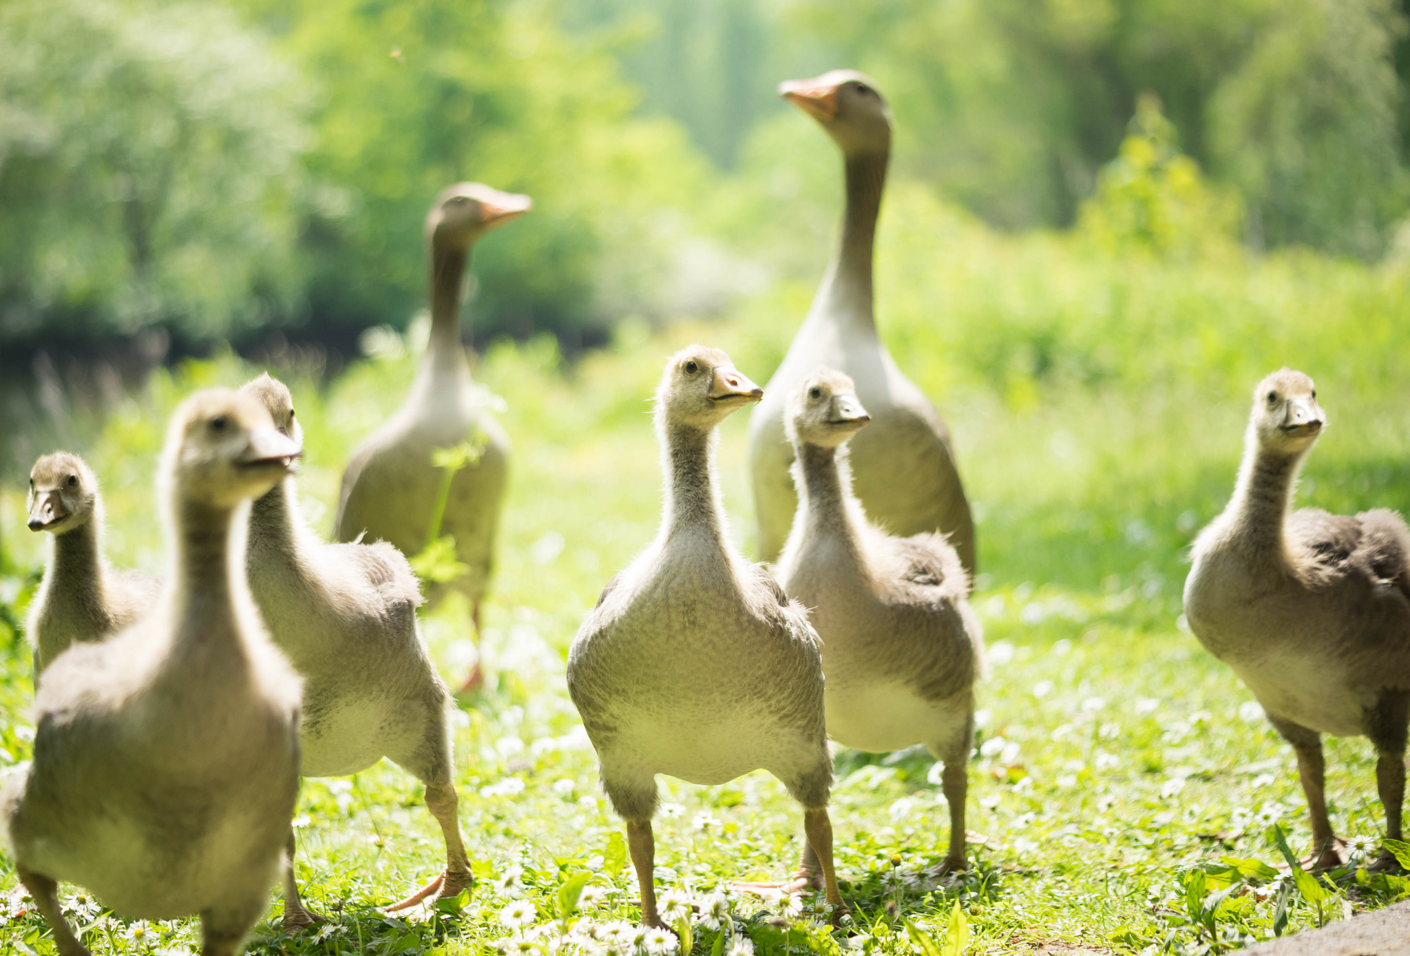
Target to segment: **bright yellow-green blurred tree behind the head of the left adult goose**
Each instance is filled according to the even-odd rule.
[[[309,323],[402,327],[424,303],[422,223],[446,185],[526,192],[534,212],[475,251],[474,337],[557,334],[568,350],[650,310],[706,166],[680,128],[634,120],[602,49],[536,0],[243,0],[317,80]],[[680,217],[677,217],[680,219]]]

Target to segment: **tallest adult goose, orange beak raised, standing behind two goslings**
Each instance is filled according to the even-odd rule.
[[[853,485],[867,515],[891,534],[942,532],[974,572],[974,525],[960,485],[950,434],[935,406],[891,360],[871,310],[871,251],[891,155],[891,111],[856,71],[790,80],[780,92],[842,149],[846,210],[842,237],[808,317],[749,420],[749,465],[759,553],[777,558],[798,506],[788,467],[784,405],[819,365],[846,372],[871,412],[854,440]]]

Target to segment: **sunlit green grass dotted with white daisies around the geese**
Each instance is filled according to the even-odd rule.
[[[1279,862],[1275,823],[1297,852],[1310,835],[1289,749],[1248,706],[1248,691],[1182,630],[1184,549],[1232,485],[1252,385],[1285,362],[1318,378],[1331,416],[1300,503],[1410,509],[1410,375],[1403,347],[1385,336],[1406,319],[1402,279],[1299,257],[1122,265],[1056,237],[997,237],[904,193],[894,214],[883,296],[908,292],[883,298],[883,324],[902,368],[943,398],[980,517],[974,603],[994,664],[979,692],[969,826],[987,839],[969,873],[933,877],[948,826],[939,787],[928,780],[931,760],[839,753],[838,863],[864,931],[850,945],[929,953],[902,921],[933,943],[956,900],[977,953],[1058,942],[1196,953],[1269,938],[1283,881],[1238,881],[1210,917],[1215,936],[1190,914],[1191,895],[1198,911],[1206,894],[1228,887],[1222,857]],[[916,250],[936,243],[943,255],[925,272]],[[461,822],[482,878],[454,914],[381,917],[379,904],[440,867],[439,831],[419,785],[388,764],[310,780],[299,808],[299,877],[337,931],[320,940],[279,935],[271,895],[254,952],[478,953],[506,935],[498,914],[510,897],[532,901],[547,922],[575,873],[611,890],[592,919],[636,919],[630,866],[613,864],[623,828],[596,787],[594,754],[564,691],[565,651],[603,582],[656,530],[647,398],[663,357],[706,340],[764,381],[808,295],[778,285],[715,324],[651,333],[627,323],[612,348],[571,367],[544,340],[489,351],[477,375],[506,402],[515,457],[485,615],[491,680],[455,729]],[[100,424],[78,429],[86,436],[79,450],[104,482],[116,563],[161,568],[151,468],[171,407],[195,386],[238,384],[254,371],[220,358],[158,374]],[[306,515],[327,530],[348,450],[399,400],[413,362],[360,362],[323,389],[298,368],[272,371],[293,388],[306,429]],[[749,550],[744,424],[743,415],[726,423],[719,454],[733,533]],[[31,733],[28,651],[21,637],[3,639],[23,618],[42,564],[42,543],[23,529],[21,491],[0,491],[10,558],[0,577],[4,763],[28,756]],[[451,682],[472,660],[462,612],[447,606],[424,622]],[[1369,746],[1327,746],[1334,825],[1344,836],[1378,838]],[[792,867],[801,815],[771,777],[661,787],[675,814],[657,818],[663,888],[705,891]],[[496,888],[516,871],[519,887]],[[1196,877],[1204,893],[1187,891],[1194,873],[1204,874]],[[1323,918],[1410,888],[1363,883],[1342,874]],[[0,888],[13,884],[0,859]],[[781,926],[777,909],[739,900],[740,932],[760,949],[849,945],[807,921]],[[7,914],[0,908],[0,955],[52,950],[37,917],[3,922]],[[1287,915],[1289,929],[1318,919],[1296,890]],[[196,939],[193,921],[159,925],[161,940],[148,949],[123,939],[123,924],[102,925],[89,935],[99,953],[182,952]],[[716,933],[697,928],[695,942],[697,952],[713,952]],[[539,948],[548,950],[547,938]]]

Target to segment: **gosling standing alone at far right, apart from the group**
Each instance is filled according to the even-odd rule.
[[[1290,510],[1297,471],[1327,416],[1292,369],[1253,389],[1234,495],[1200,532],[1184,615],[1234,668],[1297,754],[1316,869],[1342,866],[1327,816],[1321,735],[1366,736],[1386,836],[1402,836],[1410,725],[1410,529],[1378,509]],[[1382,853],[1379,866],[1393,866]]]

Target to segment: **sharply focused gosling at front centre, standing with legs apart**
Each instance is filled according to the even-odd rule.
[[[730,544],[715,427],[763,392],[718,348],[673,355],[656,396],[666,506],[656,540],[608,582],[568,651],[568,692],[626,819],[642,919],[660,925],[656,774],[723,784],[760,767],[804,807],[828,902],[832,867],[822,661],[807,613]]]

